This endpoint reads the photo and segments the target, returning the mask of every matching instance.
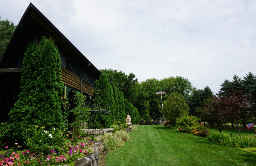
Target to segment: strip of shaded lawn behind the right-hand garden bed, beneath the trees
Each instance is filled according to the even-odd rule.
[[[210,126],[210,130],[211,130],[211,132],[219,131],[214,126]],[[222,130],[222,132],[229,133],[229,134],[232,133],[232,137],[239,137],[238,128],[236,128],[236,129],[224,128]],[[255,138],[254,137],[254,134],[255,134],[255,130],[254,129],[250,129],[250,130],[240,129],[240,133],[241,133],[241,136]]]

